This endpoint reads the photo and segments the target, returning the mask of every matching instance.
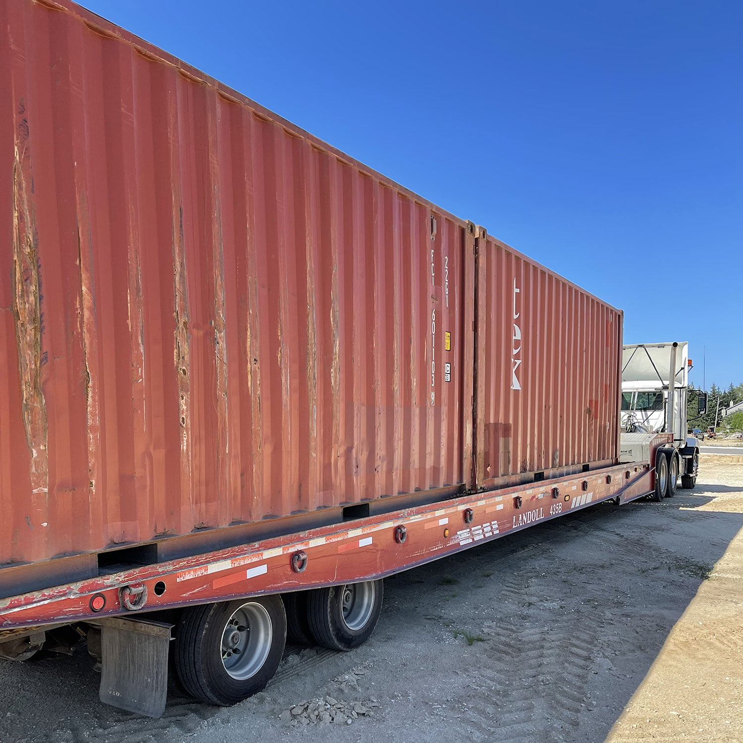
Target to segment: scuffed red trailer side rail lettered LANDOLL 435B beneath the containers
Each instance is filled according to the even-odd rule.
[[[400,510],[0,601],[0,629],[373,580],[609,499],[652,490],[633,462]]]

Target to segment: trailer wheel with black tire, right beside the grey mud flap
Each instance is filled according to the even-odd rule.
[[[190,695],[226,707],[265,687],[285,642],[279,596],[194,606],[178,623],[175,669]]]

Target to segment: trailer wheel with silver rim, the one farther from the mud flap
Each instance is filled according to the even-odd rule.
[[[307,616],[318,645],[352,650],[369,640],[382,611],[383,583],[366,580],[309,591]]]

